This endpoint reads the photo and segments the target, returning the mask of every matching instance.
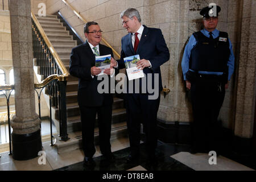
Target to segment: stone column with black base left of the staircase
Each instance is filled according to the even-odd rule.
[[[16,110],[11,122],[13,158],[28,160],[42,150],[41,121],[35,112],[30,0],[10,0],[10,20]]]

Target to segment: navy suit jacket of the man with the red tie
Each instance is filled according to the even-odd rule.
[[[152,81],[154,81],[154,74],[159,74],[160,92],[163,89],[160,65],[170,59],[169,49],[167,48],[162,31],[159,28],[149,28],[144,26],[136,53],[134,52],[133,44],[131,43],[131,36],[132,34],[129,33],[122,38],[121,59],[117,60],[118,68],[125,68],[125,63],[123,61],[124,57],[139,55],[140,59],[149,60],[152,67],[144,68],[143,72],[146,74],[146,78],[147,73],[152,73]],[[154,82],[152,85],[154,86]]]

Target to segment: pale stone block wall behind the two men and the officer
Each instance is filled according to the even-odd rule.
[[[222,125],[228,129],[234,130],[237,126],[237,135],[240,137],[249,137],[253,129],[254,105],[255,105],[255,81],[254,67],[255,55],[253,55],[251,46],[255,49],[255,36],[245,42],[241,41],[241,36],[253,36],[252,31],[255,25],[252,8],[255,7],[255,0],[67,0],[71,6],[80,12],[86,20],[94,20],[100,24],[104,31],[104,38],[114,49],[121,52],[121,38],[126,35],[123,30],[119,14],[128,7],[134,7],[139,10],[142,16],[142,23],[149,27],[161,28],[167,46],[170,50],[170,61],[163,64],[162,79],[163,86],[169,88],[171,92],[164,98],[161,97],[158,118],[169,122],[191,122],[192,111],[186,92],[181,72],[181,59],[185,43],[193,32],[199,31],[201,27],[200,10],[208,6],[210,2],[221,6],[219,16],[218,30],[229,33],[229,38],[233,44],[233,51],[236,56],[235,71],[229,82],[229,88],[226,90],[224,105],[220,112]],[[85,40],[83,33],[84,23],[69,9],[68,6],[60,0],[47,0],[47,14],[53,14],[60,11],[65,19],[75,28],[82,39]],[[250,9],[251,7],[251,9]],[[242,21],[245,21],[242,23]],[[254,22],[254,23],[253,23]],[[250,24],[250,26],[248,25]],[[249,29],[248,29],[249,28]],[[242,53],[248,51],[247,53]],[[242,53],[242,56],[241,56]],[[247,56],[247,57],[246,57]],[[240,59],[246,64],[241,64]],[[247,60],[252,59],[252,60]],[[251,69],[247,70],[250,67]],[[243,69],[242,69],[243,68]],[[246,69],[245,69],[246,68]],[[249,75],[250,74],[250,75]],[[248,79],[248,84],[242,84],[244,79]],[[241,81],[239,81],[241,80]],[[240,94],[240,90],[250,89]],[[253,88],[253,89],[252,89]],[[241,97],[240,97],[241,96]],[[248,102],[245,100],[247,99]],[[246,101],[246,102],[245,102]],[[249,102],[250,101],[250,102]],[[242,105],[241,105],[242,104]],[[242,110],[239,109],[242,106]],[[245,109],[245,108],[248,108]],[[238,107],[238,108],[237,108]],[[245,112],[246,111],[246,112]],[[240,114],[241,113],[241,114]],[[237,119],[241,122],[249,118],[246,125],[249,125],[250,134],[242,134],[245,131],[239,131],[240,125],[236,124]],[[239,119],[240,118],[240,119]],[[238,122],[240,123],[240,122]],[[239,129],[238,129],[239,128]],[[246,130],[246,129],[245,129]],[[247,132],[247,130],[246,130]]]

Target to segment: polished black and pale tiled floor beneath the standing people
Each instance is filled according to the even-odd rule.
[[[24,170],[24,171],[201,171],[201,170],[251,170],[223,156],[217,157],[217,165],[210,166],[208,154],[190,154],[189,146],[175,146],[158,142],[156,156],[158,163],[151,165],[147,163],[145,146],[141,144],[141,158],[135,163],[126,163],[129,155],[129,139],[119,138],[112,141],[112,151],[115,156],[113,163],[105,163],[98,146],[94,161],[96,167],[87,169],[82,167],[84,154],[82,150],[74,150],[63,154],[57,154],[55,147],[49,146],[49,142],[43,143],[46,152],[46,164],[40,165],[39,158],[17,161],[9,156],[9,152],[2,153],[0,158],[0,171]],[[255,169],[255,168],[254,168]]]

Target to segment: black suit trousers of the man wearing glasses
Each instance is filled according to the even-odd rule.
[[[82,122],[82,146],[84,154],[92,157],[95,152],[94,146],[94,126],[98,116],[98,129],[100,139],[100,150],[103,155],[111,153],[110,136],[112,122],[112,105],[99,107],[80,106]]]

